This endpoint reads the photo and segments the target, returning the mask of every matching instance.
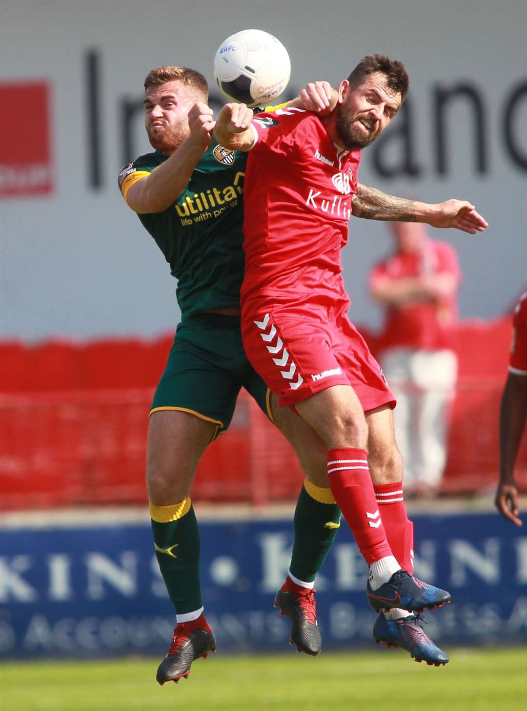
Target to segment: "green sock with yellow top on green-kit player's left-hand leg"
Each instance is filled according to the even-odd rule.
[[[190,498],[173,506],[151,503],[150,515],[156,557],[176,614],[200,609],[200,530]]]

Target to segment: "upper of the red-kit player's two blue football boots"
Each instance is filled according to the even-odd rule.
[[[372,590],[366,584],[368,602],[374,610],[391,610],[400,607],[409,612],[423,612],[425,608],[432,610],[450,602],[450,592],[418,580],[406,570],[394,572],[388,582]]]

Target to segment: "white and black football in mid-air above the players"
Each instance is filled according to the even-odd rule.
[[[232,101],[254,108],[281,95],[291,63],[281,41],[263,30],[241,30],[221,43],[214,57],[214,79]]]

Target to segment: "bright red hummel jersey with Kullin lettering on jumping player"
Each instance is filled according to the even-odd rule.
[[[340,250],[361,152],[339,149],[320,118],[303,109],[262,114],[251,127],[241,303],[313,292],[347,299]]]

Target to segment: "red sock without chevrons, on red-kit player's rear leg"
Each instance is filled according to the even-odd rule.
[[[406,515],[403,482],[375,484],[374,491],[393,555],[413,574],[413,523]]]

